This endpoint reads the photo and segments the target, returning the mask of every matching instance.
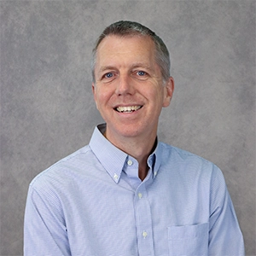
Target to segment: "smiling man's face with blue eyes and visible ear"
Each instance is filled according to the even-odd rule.
[[[97,49],[95,76],[94,98],[108,139],[155,138],[161,108],[172,98],[173,79],[163,82],[152,39],[104,38]]]

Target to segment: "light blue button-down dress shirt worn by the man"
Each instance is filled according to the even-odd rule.
[[[148,176],[96,128],[90,144],[30,184],[25,256],[242,256],[222,172],[157,143]]]

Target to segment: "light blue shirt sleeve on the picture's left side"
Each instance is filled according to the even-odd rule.
[[[71,255],[61,201],[50,189],[30,186],[24,219],[24,256]]]

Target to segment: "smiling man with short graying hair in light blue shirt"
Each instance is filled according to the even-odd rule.
[[[169,70],[166,45],[147,27],[119,21],[102,32],[92,90],[106,124],[32,181],[25,255],[244,255],[218,167],[157,140]]]

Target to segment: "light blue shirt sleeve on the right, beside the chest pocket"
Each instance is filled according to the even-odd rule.
[[[244,256],[244,242],[222,172],[212,174],[209,256]]]

